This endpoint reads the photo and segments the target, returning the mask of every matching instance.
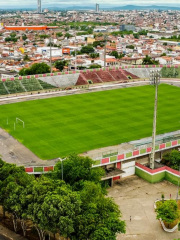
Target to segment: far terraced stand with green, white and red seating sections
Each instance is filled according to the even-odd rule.
[[[56,87],[67,88],[78,85],[88,85],[93,83],[121,81],[127,82],[129,79],[138,79],[148,76],[151,69],[123,69],[109,71],[89,71],[75,74],[62,74],[49,77],[32,77],[22,80],[7,80],[0,82],[0,95],[31,92]]]

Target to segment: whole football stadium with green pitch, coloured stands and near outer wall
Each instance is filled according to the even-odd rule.
[[[2,79],[0,142],[4,158],[24,165],[30,174],[41,174],[53,169],[58,158],[76,152],[91,157],[93,167],[105,168],[103,180],[111,184],[135,171],[145,176],[148,171],[142,166],[149,164],[155,95],[149,75],[154,69],[162,76],[156,160],[177,149],[179,68],[129,66]],[[8,141],[16,141],[16,149],[9,153]],[[25,161],[26,151],[35,156],[29,155],[29,159],[38,160]]]

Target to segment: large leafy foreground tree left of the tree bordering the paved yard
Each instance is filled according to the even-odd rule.
[[[41,176],[28,191],[28,218],[37,229],[39,239],[50,232],[69,237],[81,211],[81,200],[64,181]]]

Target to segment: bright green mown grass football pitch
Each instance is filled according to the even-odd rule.
[[[151,136],[154,90],[142,86],[1,105],[0,126],[42,159],[82,153]],[[16,117],[25,129],[19,122],[14,130]],[[180,129],[180,88],[160,85],[157,129]]]

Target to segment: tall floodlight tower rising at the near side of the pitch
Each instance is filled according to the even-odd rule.
[[[154,169],[155,145],[156,145],[156,120],[157,120],[157,104],[158,104],[158,85],[160,84],[160,72],[158,70],[151,71],[150,84],[155,86],[155,101],[154,101],[154,120],[152,132],[152,151],[150,157],[150,168]]]

